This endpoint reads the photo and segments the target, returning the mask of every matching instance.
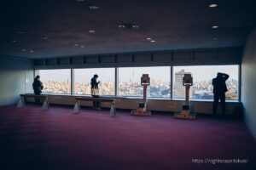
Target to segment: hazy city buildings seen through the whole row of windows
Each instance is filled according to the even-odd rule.
[[[173,99],[184,99],[184,87],[182,85],[182,77],[184,71],[176,72],[180,77],[174,77],[176,84],[173,84]],[[179,80],[179,81],[177,81]],[[71,82],[66,81],[47,81],[44,83],[44,93],[54,94],[70,94]],[[236,100],[239,94],[238,80],[230,78],[227,82],[228,92],[226,99]],[[99,85],[100,95],[114,95],[115,84],[111,82],[101,82]],[[118,83],[118,96],[142,97],[143,87],[140,81],[126,81]],[[178,92],[178,94],[177,94]],[[74,94],[90,95],[90,82],[74,82]],[[212,99],[212,81],[195,81],[193,87],[190,88],[190,99]],[[171,99],[171,82],[162,82],[160,80],[151,79],[148,87],[148,98]]]

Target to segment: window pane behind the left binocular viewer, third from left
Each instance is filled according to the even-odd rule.
[[[141,77],[149,74],[149,98],[170,98],[171,67],[124,67],[119,68],[119,96],[142,97]]]

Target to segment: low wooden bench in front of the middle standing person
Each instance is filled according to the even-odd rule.
[[[74,105],[73,108],[73,112],[74,113],[79,113],[81,110],[80,107],[80,101],[100,101],[100,102],[107,102],[107,103],[111,103],[111,107],[110,107],[110,112],[109,112],[109,116],[115,116],[116,112],[115,112],[115,99],[109,99],[109,98],[93,98],[93,97],[77,97],[75,98],[77,100],[76,104]]]

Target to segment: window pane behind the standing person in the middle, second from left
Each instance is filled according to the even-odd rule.
[[[90,95],[90,79],[95,74],[100,95],[114,95],[114,68],[74,69],[74,94]]]

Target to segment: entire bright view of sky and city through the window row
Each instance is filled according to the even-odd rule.
[[[205,71],[201,71],[204,69]],[[239,80],[238,65],[206,65],[206,66],[174,66],[171,82],[171,67],[122,67],[118,71],[118,96],[142,97],[143,87],[140,78],[143,73],[148,73],[150,86],[148,87],[148,98],[171,98],[183,99],[185,91],[182,84],[183,74],[190,73],[194,84],[190,88],[190,99],[213,99],[212,78],[216,77],[218,71],[230,75],[226,84],[228,92],[227,99],[238,99]],[[64,70],[42,70],[37,71],[44,83],[44,93],[70,94],[71,93],[71,71]],[[167,74],[166,74],[167,72]],[[115,71],[114,68],[103,69],[74,69],[73,87],[74,94],[90,95],[90,79],[94,74],[99,75],[98,81],[100,95],[115,94]],[[173,88],[171,89],[171,84]]]

